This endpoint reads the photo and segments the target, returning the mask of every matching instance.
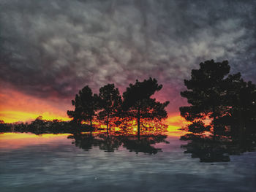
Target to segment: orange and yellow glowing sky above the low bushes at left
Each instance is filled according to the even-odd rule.
[[[0,120],[5,123],[26,122],[39,115],[45,120],[70,120],[65,110],[43,99],[11,90],[0,94]]]

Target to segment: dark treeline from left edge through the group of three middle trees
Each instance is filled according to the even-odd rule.
[[[58,134],[92,132],[106,128],[108,133],[110,126],[115,126],[124,134],[133,134],[135,125],[138,128],[138,136],[141,130],[150,133],[163,132],[167,130],[167,125],[161,120],[167,118],[165,107],[169,101],[161,103],[151,98],[161,89],[162,85],[151,77],[130,84],[122,97],[114,84],[102,86],[98,94],[92,93],[87,85],[72,100],[75,110],[67,111],[69,118],[72,118],[70,122],[43,120],[42,116],[31,123],[4,123],[1,120],[0,132]],[[105,127],[102,128],[102,125]]]

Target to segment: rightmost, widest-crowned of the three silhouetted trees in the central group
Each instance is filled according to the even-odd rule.
[[[169,101],[160,103],[151,98],[156,91],[161,89],[162,85],[158,85],[157,80],[150,77],[143,82],[136,80],[135,84],[130,84],[127,91],[123,93],[124,111],[127,112],[130,118],[137,119],[138,137],[140,137],[141,118],[148,120],[167,118],[165,107],[167,107]]]

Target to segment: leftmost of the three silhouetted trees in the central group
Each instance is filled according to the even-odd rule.
[[[96,115],[99,103],[99,96],[93,94],[89,86],[85,86],[72,100],[72,105],[75,106],[74,111],[67,111],[69,118],[80,124],[83,120],[89,121],[92,127],[92,120]]]

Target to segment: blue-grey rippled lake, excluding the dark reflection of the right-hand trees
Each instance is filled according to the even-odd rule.
[[[0,134],[1,192],[255,191],[256,153],[200,162],[181,133],[164,138]]]

